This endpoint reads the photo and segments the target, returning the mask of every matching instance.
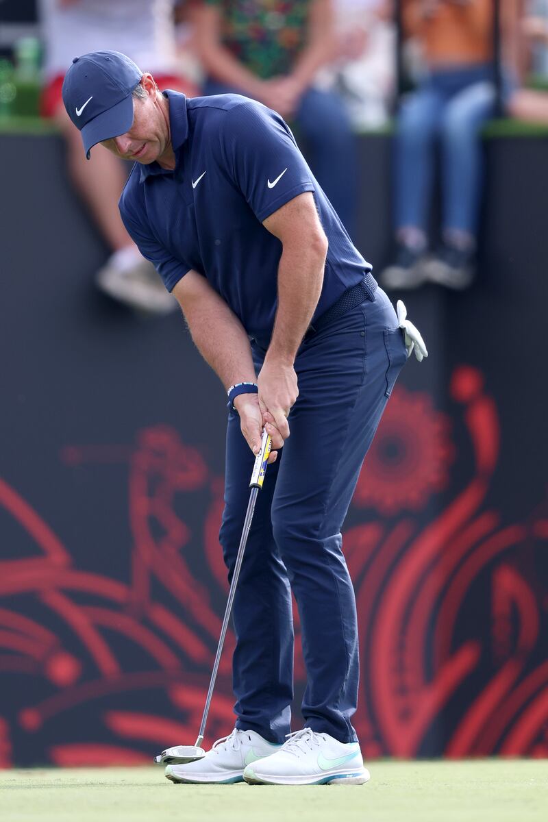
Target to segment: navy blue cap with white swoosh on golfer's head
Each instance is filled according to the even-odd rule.
[[[87,159],[97,143],[129,132],[131,92],[142,76],[140,68],[120,52],[90,52],[72,61],[62,84],[62,101],[82,132]]]

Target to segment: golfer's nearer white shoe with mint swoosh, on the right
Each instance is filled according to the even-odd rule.
[[[247,765],[243,778],[250,785],[363,785],[370,774],[357,742],[306,727],[288,734],[276,753]]]

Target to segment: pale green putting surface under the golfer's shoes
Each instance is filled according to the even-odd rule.
[[[173,785],[160,768],[0,771],[2,822],[546,822],[548,760],[380,761],[363,786]]]

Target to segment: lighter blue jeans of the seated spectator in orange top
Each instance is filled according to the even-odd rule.
[[[396,229],[426,230],[439,139],[442,226],[476,233],[483,170],[478,132],[494,112],[490,63],[432,72],[404,100],[395,140]]]

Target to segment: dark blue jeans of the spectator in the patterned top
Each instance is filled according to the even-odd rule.
[[[242,94],[211,79],[202,90],[206,96],[230,93]],[[331,91],[310,88],[293,119],[306,141],[312,173],[356,242],[357,141],[343,101]]]

